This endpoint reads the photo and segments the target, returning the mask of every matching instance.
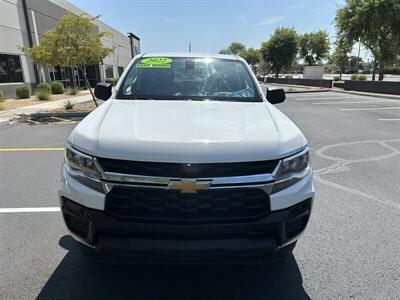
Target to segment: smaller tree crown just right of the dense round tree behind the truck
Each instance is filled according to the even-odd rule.
[[[329,56],[329,38],[326,31],[315,31],[299,36],[299,57],[309,65],[320,63]]]

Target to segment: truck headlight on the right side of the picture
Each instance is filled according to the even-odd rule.
[[[299,153],[282,160],[276,174],[276,181],[271,193],[284,190],[300,181],[307,174],[309,165],[309,149],[306,147]]]

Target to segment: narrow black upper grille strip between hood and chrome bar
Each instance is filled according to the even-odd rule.
[[[177,178],[212,178],[272,173],[279,160],[239,163],[158,163],[97,158],[105,172]]]

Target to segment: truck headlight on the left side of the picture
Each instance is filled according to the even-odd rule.
[[[65,161],[68,174],[80,183],[104,193],[99,180],[100,172],[92,156],[81,153],[70,146],[65,149]]]

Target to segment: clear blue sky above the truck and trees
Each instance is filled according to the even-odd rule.
[[[120,32],[141,38],[142,52],[217,53],[231,42],[259,48],[279,26],[326,30],[344,0],[69,0]]]

